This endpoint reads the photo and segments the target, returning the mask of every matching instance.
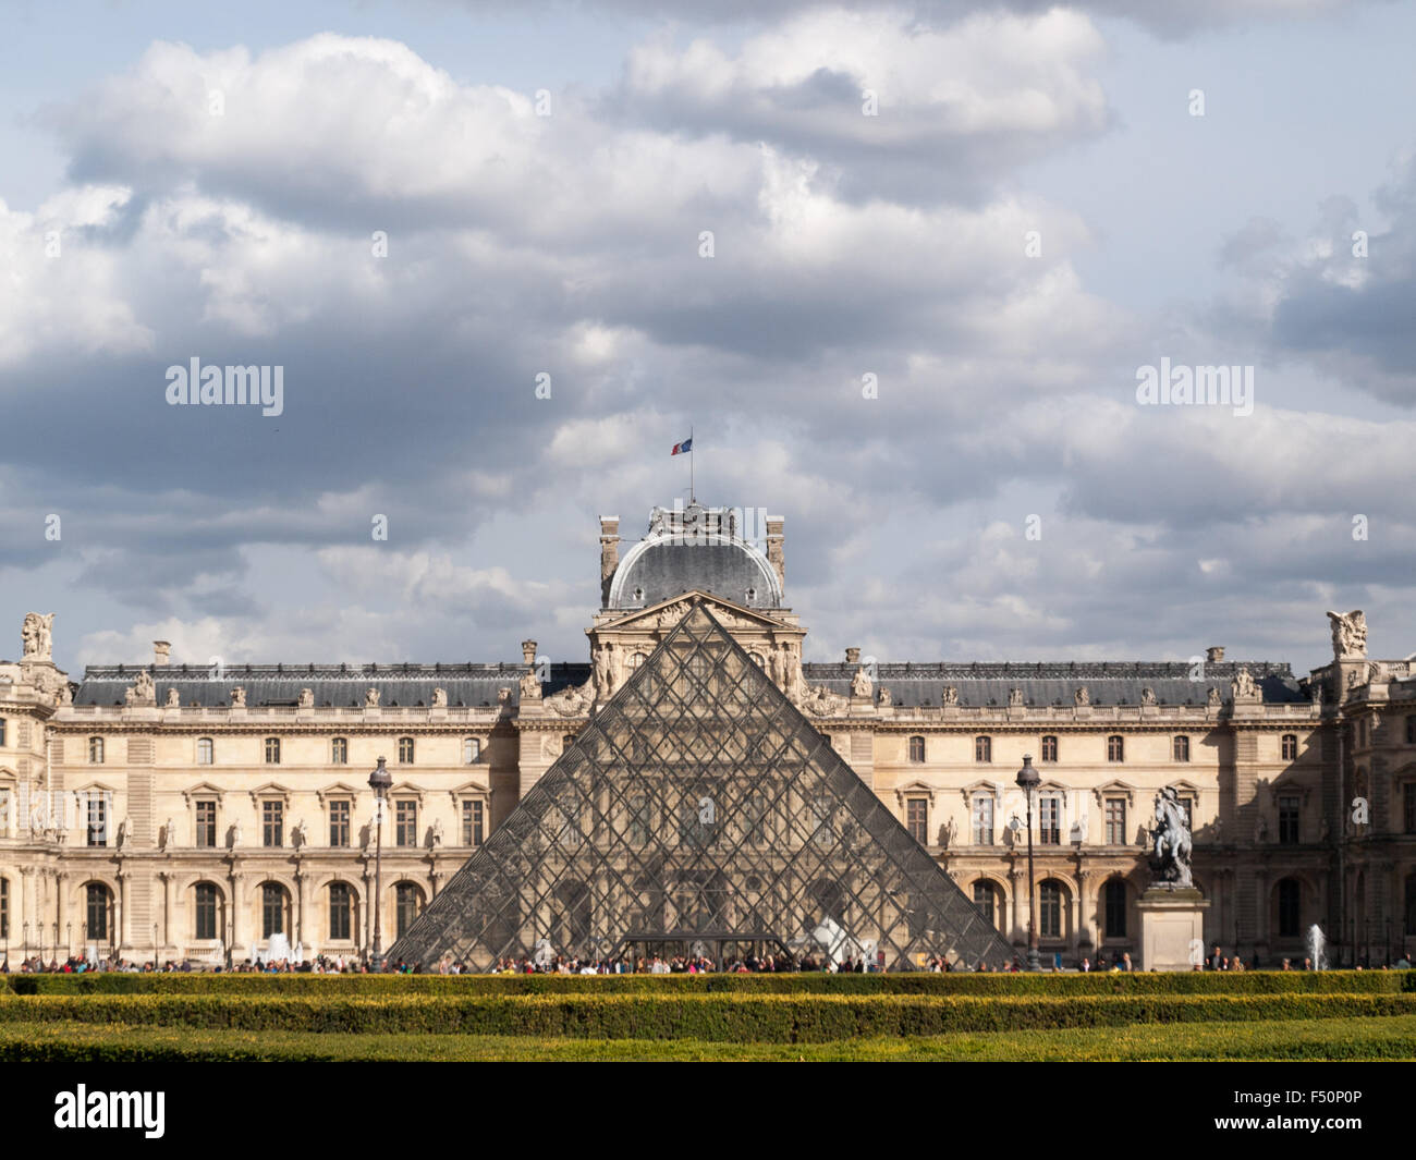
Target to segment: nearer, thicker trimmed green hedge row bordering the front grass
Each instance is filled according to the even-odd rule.
[[[1409,994],[1250,996],[790,996],[564,994],[31,996],[0,1003],[0,1021],[52,1021],[358,1034],[697,1038],[797,1042],[1120,1027],[1134,1023],[1306,1020],[1416,1014]]]

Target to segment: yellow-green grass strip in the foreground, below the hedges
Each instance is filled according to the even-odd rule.
[[[818,1044],[528,1035],[193,1030],[76,1021],[0,1025],[0,1061],[1276,1061],[1416,1059],[1416,1016],[956,1033]]]

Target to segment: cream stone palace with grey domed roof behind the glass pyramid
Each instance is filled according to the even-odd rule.
[[[756,524],[756,527],[753,527]],[[803,663],[784,606],[783,521],[656,508],[620,552],[600,525],[589,661],[396,666],[51,657],[25,618],[0,663],[0,939],[21,953],[244,959],[279,931],[306,953],[372,939],[374,795],[382,946],[432,898],[702,593],[714,616],[1020,946],[1028,926],[1025,754],[1041,949],[1141,960],[1153,803],[1191,816],[1205,942],[1276,965],[1323,926],[1342,962],[1416,948],[1416,674],[1366,657],[1361,613],[1330,613],[1334,660]],[[701,582],[695,550],[714,551]],[[670,593],[670,595],[664,595]],[[660,596],[654,599],[654,596]]]

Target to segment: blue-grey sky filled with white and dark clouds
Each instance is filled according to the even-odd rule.
[[[809,659],[1416,650],[1416,10],[702,7],[10,4],[0,654],[582,660],[690,428]]]

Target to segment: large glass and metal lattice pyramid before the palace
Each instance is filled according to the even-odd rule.
[[[389,962],[1014,949],[697,599]]]

